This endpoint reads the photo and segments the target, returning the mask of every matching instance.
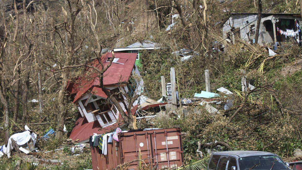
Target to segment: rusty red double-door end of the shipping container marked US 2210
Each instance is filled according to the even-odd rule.
[[[182,137],[180,128],[157,129],[120,134],[122,162],[138,159],[139,150],[145,163],[158,169],[180,167],[183,162]],[[130,164],[137,168],[137,162]]]

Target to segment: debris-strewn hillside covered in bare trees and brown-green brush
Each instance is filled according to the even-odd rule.
[[[275,15],[282,21],[282,17],[289,15],[297,18],[287,24],[294,26],[301,20],[299,1],[261,2],[262,14],[267,14],[262,18]],[[110,62],[110,67],[111,64],[120,64],[120,67],[114,66],[118,72],[126,67],[126,61],[130,62],[131,54],[123,60],[124,63],[118,63],[113,59],[114,53],[110,52],[115,48],[127,49],[127,46],[144,40],[152,41],[159,47],[139,49],[139,52],[138,48],[133,48],[134,52],[127,52],[139,53],[140,66],[137,68],[140,77],[131,74],[127,81],[111,84],[128,88],[130,81],[142,79],[144,86],[140,95],[157,101],[162,98],[161,76],[165,77],[165,83],[169,83],[170,69],[174,67],[179,101],[189,99],[192,103],[180,102],[173,112],[166,111],[165,116],[148,121],[136,120],[128,113],[136,117],[161,115],[166,108],[133,108],[137,99],[132,99],[136,95],[129,97],[129,93],[124,94],[121,90],[115,95],[123,94],[128,103],[133,102],[128,108],[124,104],[124,110],[116,107],[122,113],[117,117],[122,117],[120,122],[117,121],[121,129],[180,127],[184,132],[184,165],[202,160],[200,152],[196,151],[198,144],[204,159],[207,159],[211,149],[259,150],[276,153],[286,161],[299,159],[293,151],[302,149],[302,52],[301,40],[297,43],[295,39],[301,31],[295,37],[287,38],[286,42],[279,42],[277,49],[273,46],[274,38],[281,35],[271,36],[271,42],[253,43],[255,38],[250,38],[253,30],[246,20],[242,23],[246,26],[238,27],[241,34],[248,32],[248,40],[240,39],[240,30],[239,38],[236,37],[234,23],[232,26],[229,24],[230,32],[223,32],[232,13],[244,13],[238,18],[252,15],[250,13],[255,13],[256,17],[258,0],[7,0],[1,2],[0,8],[0,145],[6,145],[11,135],[23,131],[24,125],[27,125],[37,134],[36,147],[39,150],[34,158],[15,154],[8,159],[4,155],[0,158],[0,169],[13,169],[15,166],[30,169],[31,162],[42,159],[60,162],[51,165],[44,162],[34,168],[92,169],[89,143],[83,152],[76,152],[79,155],[75,155],[70,148],[78,141],[66,141],[75,122],[85,118],[79,112],[80,105],[74,100],[75,96],[79,89],[86,88],[85,83],[81,84],[83,79],[87,82],[97,79],[95,86],[104,91],[104,96],[114,96],[112,89],[108,92],[104,90],[109,85],[102,82],[106,76],[110,77],[104,74],[108,73],[104,69],[108,64],[106,62]],[[276,22],[276,19],[271,22],[274,26],[283,23]],[[270,30],[271,27],[261,22],[261,30]],[[273,32],[273,29],[270,31]],[[298,27],[295,31],[299,30]],[[226,36],[229,33],[233,35],[228,39]],[[268,48],[274,49],[275,54],[270,55]],[[185,55],[178,55],[177,52],[182,49],[191,50],[186,55],[191,55],[188,60],[182,58]],[[103,58],[109,54],[106,53],[108,51],[111,57]],[[117,60],[121,62],[121,59]],[[105,66],[100,67],[94,62],[103,62]],[[135,64],[138,65],[137,61]],[[209,70],[210,91],[219,94],[214,99],[220,103],[210,103],[213,98],[194,98],[195,93],[206,91],[204,70]],[[123,70],[120,72],[125,74]],[[246,87],[246,91],[242,90],[242,77],[254,89]],[[70,86],[77,83],[80,84],[78,91],[73,93]],[[230,90],[232,94],[217,91],[220,87]],[[86,90],[80,97],[87,93],[96,92]],[[87,101],[89,99],[86,97]],[[207,104],[201,106],[201,100],[217,112],[207,110],[204,106]],[[116,97],[111,101],[113,105],[119,102]],[[85,109],[87,103],[82,104]],[[232,104],[225,109],[226,103]],[[110,119],[105,117],[107,121]],[[85,120],[90,123],[87,118]],[[64,132],[64,126],[67,132]],[[43,135],[50,129],[56,133],[44,140]],[[63,149],[44,153],[60,148]]]

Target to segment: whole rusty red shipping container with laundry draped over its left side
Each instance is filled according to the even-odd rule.
[[[113,140],[112,144],[108,144],[107,152],[103,155],[98,147],[91,147],[94,170],[111,170],[138,159],[139,152],[147,165],[158,165],[157,169],[180,167],[184,159],[180,128],[120,133],[119,142]],[[131,163],[129,169],[137,169],[137,163]]]

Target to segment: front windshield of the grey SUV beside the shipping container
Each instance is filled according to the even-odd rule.
[[[278,156],[249,156],[239,158],[240,170],[288,169]]]

